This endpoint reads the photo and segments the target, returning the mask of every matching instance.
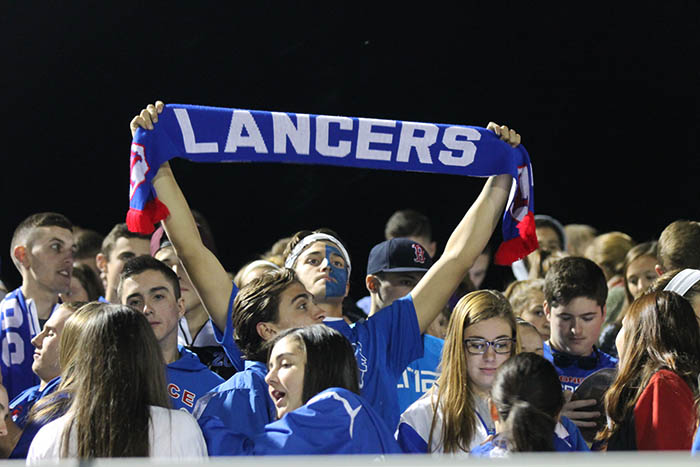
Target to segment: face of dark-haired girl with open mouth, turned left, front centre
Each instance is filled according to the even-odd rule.
[[[277,418],[282,418],[304,405],[306,352],[296,339],[287,336],[272,348],[268,367],[265,382],[277,408]]]

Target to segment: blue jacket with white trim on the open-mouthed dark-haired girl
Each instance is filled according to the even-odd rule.
[[[202,417],[200,426],[210,456],[400,453],[371,405],[342,388],[316,394],[255,436],[233,433],[217,417]]]

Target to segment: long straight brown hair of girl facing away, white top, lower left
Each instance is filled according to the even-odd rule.
[[[74,385],[61,456],[71,432],[78,458],[148,456],[150,406],[169,406],[161,350],[142,313],[94,306],[100,310],[84,324],[82,350],[64,370]]]

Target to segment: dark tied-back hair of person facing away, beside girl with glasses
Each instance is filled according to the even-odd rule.
[[[496,373],[491,400],[505,423],[502,435],[512,451],[554,450],[554,428],[564,396],[550,362],[530,352],[511,357]]]

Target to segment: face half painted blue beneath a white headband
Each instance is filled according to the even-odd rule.
[[[331,242],[309,245],[299,255],[294,271],[318,302],[340,302],[347,295],[347,265],[343,254]]]

